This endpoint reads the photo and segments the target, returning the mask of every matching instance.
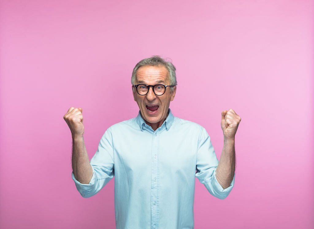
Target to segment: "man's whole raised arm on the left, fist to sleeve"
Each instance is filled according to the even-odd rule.
[[[81,108],[71,107],[64,120],[72,133],[72,179],[84,198],[98,193],[114,176],[112,135],[109,128],[100,139],[98,149],[89,161],[84,144],[83,115]]]

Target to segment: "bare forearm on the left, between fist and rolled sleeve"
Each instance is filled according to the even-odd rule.
[[[72,136],[72,169],[75,179],[82,184],[88,184],[93,175],[83,136]]]

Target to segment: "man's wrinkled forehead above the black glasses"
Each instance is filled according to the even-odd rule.
[[[138,84],[167,84],[169,72],[165,66],[142,66],[136,71]]]

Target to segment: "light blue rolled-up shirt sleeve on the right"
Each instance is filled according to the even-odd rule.
[[[198,151],[197,151],[197,162],[196,162],[196,173],[195,177],[205,185],[208,192],[219,199],[225,199],[231,192],[236,174],[234,174],[230,186],[223,188],[216,177],[216,169],[218,166],[218,159],[205,128],[201,127],[198,137]]]

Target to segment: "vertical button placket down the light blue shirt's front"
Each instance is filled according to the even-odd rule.
[[[151,177],[151,212],[152,219],[151,225],[153,228],[157,228],[158,225],[158,133],[153,133],[152,139],[152,177]]]

